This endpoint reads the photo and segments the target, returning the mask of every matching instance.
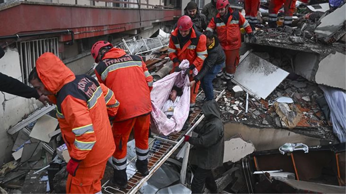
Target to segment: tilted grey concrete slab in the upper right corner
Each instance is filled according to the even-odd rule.
[[[321,19],[321,24],[315,29],[318,38],[333,36],[336,31],[342,28],[346,20],[346,4],[336,9],[326,17]]]

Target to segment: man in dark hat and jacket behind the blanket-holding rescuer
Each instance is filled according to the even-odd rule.
[[[204,30],[206,30],[209,21],[203,13],[199,12],[197,3],[190,1],[186,5],[184,13],[185,16],[189,16],[191,18],[195,30],[199,32],[203,32]],[[176,27],[177,23],[174,25],[173,29],[175,29]]]

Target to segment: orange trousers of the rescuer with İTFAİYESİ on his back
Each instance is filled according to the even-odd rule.
[[[136,106],[136,105],[128,105]],[[127,141],[131,130],[134,129],[136,148],[148,149],[150,114],[130,118],[112,125],[114,142],[116,145],[113,157],[123,159],[127,154]]]

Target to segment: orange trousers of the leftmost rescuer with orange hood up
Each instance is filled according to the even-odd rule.
[[[100,192],[107,161],[91,167],[79,167],[76,176],[69,174],[66,182],[66,194],[95,194]]]

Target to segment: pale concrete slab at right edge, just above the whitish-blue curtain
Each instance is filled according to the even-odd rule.
[[[318,64],[319,67],[315,77],[316,83],[346,89],[345,59],[346,55],[341,52],[329,54],[326,58],[322,59]]]

